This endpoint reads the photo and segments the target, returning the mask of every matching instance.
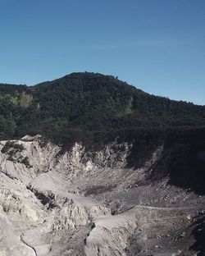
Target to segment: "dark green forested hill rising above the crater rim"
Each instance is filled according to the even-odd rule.
[[[146,94],[113,76],[85,72],[30,87],[0,85],[0,139],[103,141],[204,126],[205,107]]]

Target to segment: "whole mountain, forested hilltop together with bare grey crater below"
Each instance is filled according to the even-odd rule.
[[[0,139],[0,255],[205,255],[204,106],[73,73],[0,85]]]

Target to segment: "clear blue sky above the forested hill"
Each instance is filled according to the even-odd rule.
[[[205,104],[204,0],[0,0],[0,82],[117,75]]]

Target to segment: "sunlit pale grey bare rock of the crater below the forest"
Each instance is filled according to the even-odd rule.
[[[134,147],[1,141],[0,255],[194,255],[204,197],[160,171],[170,159],[164,144],[140,167],[130,164]]]

